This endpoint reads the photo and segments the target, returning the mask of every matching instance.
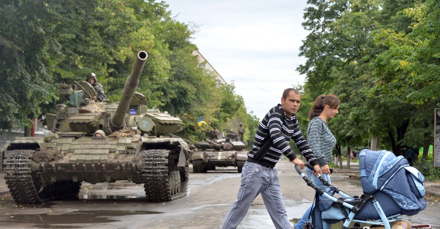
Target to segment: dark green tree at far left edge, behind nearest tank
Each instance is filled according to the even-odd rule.
[[[54,15],[32,0],[2,1],[0,14],[0,130],[10,130],[30,126],[40,106],[56,99],[46,37]]]

